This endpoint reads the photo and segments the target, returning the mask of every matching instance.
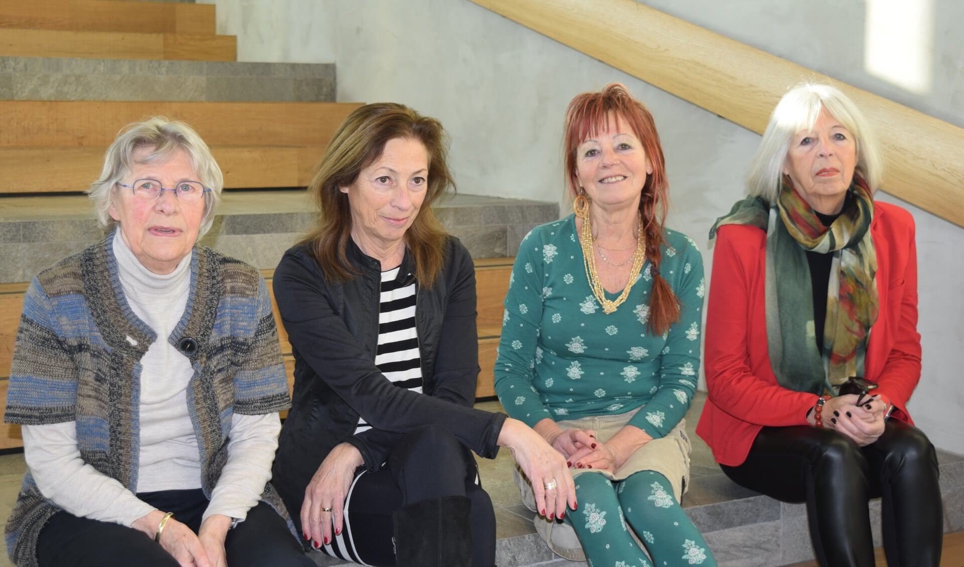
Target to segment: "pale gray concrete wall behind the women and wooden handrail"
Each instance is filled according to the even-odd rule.
[[[338,100],[397,101],[440,118],[464,193],[563,201],[566,104],[580,91],[618,81],[656,117],[673,201],[668,224],[708,252],[707,230],[741,196],[744,169],[760,140],[466,0],[201,1],[217,4],[218,32],[239,36],[243,61],[335,62]],[[899,0],[643,3],[964,126],[964,39],[953,27],[964,4],[955,0],[902,3],[915,5],[914,14],[895,13]],[[871,10],[874,18],[892,15],[903,26],[871,43],[897,53],[877,58],[885,67],[924,68],[914,91],[864,70],[865,43],[880,39],[865,34]],[[886,22],[873,21],[874,30],[884,29]],[[915,22],[913,30],[908,22]],[[964,229],[901,204],[918,222],[921,265],[924,377],[910,409],[938,447],[964,452],[964,389],[957,380],[964,368]],[[709,274],[711,253],[706,260]]]

